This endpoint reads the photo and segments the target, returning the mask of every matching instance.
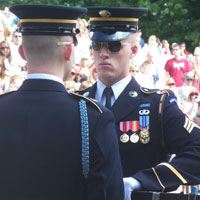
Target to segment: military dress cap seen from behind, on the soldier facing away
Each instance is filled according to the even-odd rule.
[[[15,5],[10,11],[19,17],[23,35],[75,35],[76,20],[86,8],[55,5]]]

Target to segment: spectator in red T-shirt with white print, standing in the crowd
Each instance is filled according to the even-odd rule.
[[[181,78],[185,73],[192,70],[187,59],[181,57],[180,46],[173,46],[174,58],[169,59],[165,64],[166,80],[170,77],[174,79],[176,87],[181,87],[184,81]]]

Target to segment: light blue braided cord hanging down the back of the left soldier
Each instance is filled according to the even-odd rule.
[[[82,143],[82,172],[85,179],[89,172],[89,127],[86,101],[81,99],[79,101],[80,118],[81,118],[81,143]]]

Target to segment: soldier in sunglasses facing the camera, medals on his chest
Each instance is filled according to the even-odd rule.
[[[125,200],[134,190],[171,191],[200,183],[200,130],[168,90],[142,88],[129,74],[136,31],[146,8],[90,7],[90,38],[98,80],[82,92],[115,117]],[[168,154],[176,154],[169,163]]]

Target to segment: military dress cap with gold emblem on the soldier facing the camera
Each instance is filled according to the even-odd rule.
[[[147,8],[88,7],[90,39],[120,41],[138,30],[139,18]]]

